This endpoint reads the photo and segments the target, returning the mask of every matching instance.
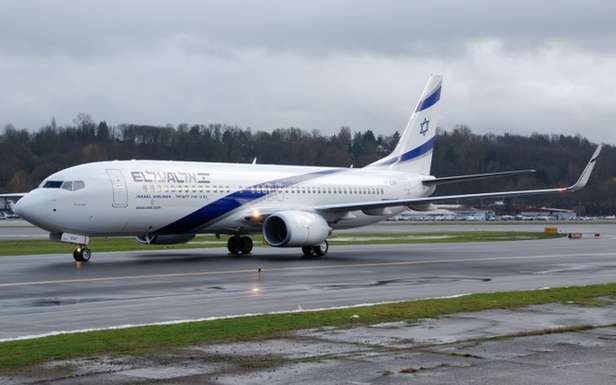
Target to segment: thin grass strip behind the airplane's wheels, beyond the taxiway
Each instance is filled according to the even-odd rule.
[[[520,231],[461,231],[461,232],[431,232],[431,233],[336,233],[330,238],[333,245],[366,245],[366,244],[397,244],[397,243],[453,243],[453,242],[485,242],[507,240],[548,239],[564,236],[562,234],[545,234],[542,232]],[[353,240],[337,240],[336,238],[353,238]],[[369,238],[389,238],[371,240]],[[416,237],[412,239],[409,237]],[[430,238],[434,237],[434,238]],[[363,239],[362,239],[363,238]],[[253,236],[255,244],[262,244],[260,234]],[[226,247],[226,237],[217,239],[213,235],[201,235],[189,243],[177,245],[142,245],[134,238],[92,238],[90,249],[93,252],[107,251],[148,251],[201,249],[208,247]],[[0,256],[29,254],[71,254],[74,245],[48,240],[3,240],[0,241]]]

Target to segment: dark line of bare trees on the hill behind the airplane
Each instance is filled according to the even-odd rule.
[[[161,159],[263,164],[362,167],[393,150],[399,133],[342,127],[324,135],[299,128],[254,131],[225,124],[177,127],[110,126],[80,114],[73,125],[36,131],[11,125],[0,133],[0,192],[23,192],[73,165],[110,159]],[[468,127],[440,130],[432,174],[436,176],[537,169],[529,176],[440,186],[437,194],[566,186],[575,182],[595,144],[581,136],[474,134]],[[574,208],[585,215],[616,213],[616,150],[606,146],[587,189],[575,194],[516,198],[515,205]],[[481,204],[482,202],[477,202]]]

